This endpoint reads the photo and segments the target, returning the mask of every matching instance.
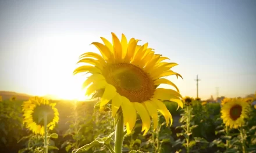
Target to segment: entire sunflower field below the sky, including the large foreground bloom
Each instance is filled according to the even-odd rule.
[[[91,74],[81,85],[91,100],[0,97],[1,152],[256,152],[256,94],[184,97],[167,78],[182,78],[177,64],[148,43],[101,39],[101,55],[81,54],[73,72]]]

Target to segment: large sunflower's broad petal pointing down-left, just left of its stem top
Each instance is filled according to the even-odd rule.
[[[115,96],[116,96],[115,86],[111,84],[106,84],[105,91],[101,99],[100,107],[104,107],[104,105],[108,104],[109,101],[111,101]]]

